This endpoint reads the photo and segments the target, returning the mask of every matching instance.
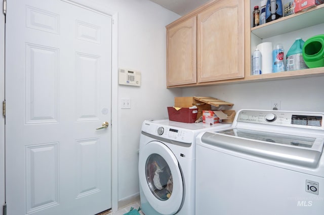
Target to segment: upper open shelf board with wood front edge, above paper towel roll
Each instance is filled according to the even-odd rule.
[[[254,27],[251,32],[261,39],[324,23],[324,4]]]

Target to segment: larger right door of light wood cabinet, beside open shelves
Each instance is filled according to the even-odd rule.
[[[244,77],[244,1],[220,0],[197,17],[198,82]]]

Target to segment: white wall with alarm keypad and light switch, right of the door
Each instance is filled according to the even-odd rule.
[[[166,89],[166,28],[179,16],[149,1],[118,2],[118,66],[139,70],[141,87],[118,86],[118,199],[139,193],[138,148],[145,119],[166,119],[181,89]],[[120,2],[120,3],[119,3]]]

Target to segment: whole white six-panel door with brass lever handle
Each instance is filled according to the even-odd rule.
[[[7,1],[7,214],[111,207],[111,17]]]

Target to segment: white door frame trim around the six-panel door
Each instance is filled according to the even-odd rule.
[[[118,13],[100,7],[87,0],[61,0],[76,6],[81,6],[89,10],[100,12],[112,18],[111,25],[111,210],[118,210]],[[3,38],[0,41],[0,101],[5,100],[5,15],[0,16],[0,34]],[[1,108],[2,109],[2,108]],[[2,110],[1,110],[2,115]],[[5,118],[0,117],[0,207],[5,204]],[[0,208],[0,215],[3,209]]]

